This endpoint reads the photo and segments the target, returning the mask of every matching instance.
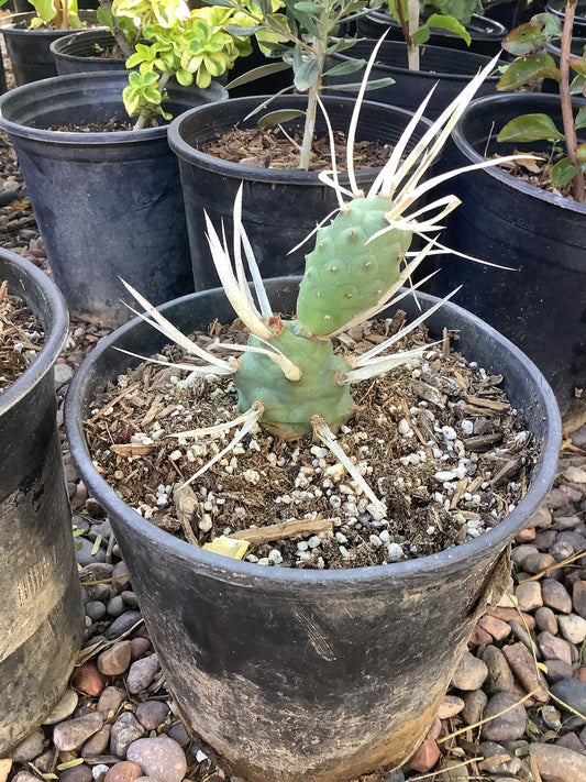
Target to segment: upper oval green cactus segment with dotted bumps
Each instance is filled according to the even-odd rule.
[[[297,299],[297,318],[310,333],[336,331],[375,306],[380,294],[397,282],[412,233],[397,229],[366,244],[388,228],[385,212],[391,207],[378,196],[354,198],[346,211],[318,231]]]

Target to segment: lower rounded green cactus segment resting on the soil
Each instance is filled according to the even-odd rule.
[[[244,412],[259,399],[265,406],[263,427],[285,439],[311,433],[313,415],[322,416],[336,431],[354,409],[349,386],[334,379],[336,372],[347,371],[346,362],[334,355],[329,340],[302,337],[297,321],[284,321],[283,326],[272,344],[301,368],[301,379],[288,381],[283,370],[262,353],[244,353],[233,377],[240,409]],[[266,348],[255,337],[250,338],[248,344]]]

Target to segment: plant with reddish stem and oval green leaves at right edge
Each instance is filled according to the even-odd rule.
[[[511,143],[548,141],[554,146],[563,143],[565,155],[551,167],[551,183],[555,188],[572,183],[574,199],[584,202],[586,143],[578,143],[576,131],[586,128],[586,109],[579,109],[575,115],[572,109],[572,96],[586,95],[586,53],[579,57],[571,51],[576,1],[567,2],[563,25],[553,14],[539,13],[508,33],[502,47],[515,54],[516,59],[505,69],[497,85],[499,90],[512,91],[537,78],[554,79],[560,85],[563,128],[559,129],[549,114],[522,114],[508,122],[497,137],[498,141]],[[557,64],[543,47],[559,37],[561,54]]]

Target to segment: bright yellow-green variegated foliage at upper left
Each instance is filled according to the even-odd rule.
[[[180,85],[208,87],[212,78],[252,52],[246,20],[228,8],[210,5],[189,10],[185,0],[100,0],[99,21],[108,26],[126,59],[137,68],[129,77],[123,100],[135,129],[153,115],[165,119],[163,101],[169,78]],[[235,32],[226,32],[228,24]]]

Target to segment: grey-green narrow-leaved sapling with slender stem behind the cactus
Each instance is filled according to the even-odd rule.
[[[272,112],[263,118],[265,124],[269,122],[276,124],[295,115],[305,115],[298,167],[307,170],[324,77],[356,73],[365,65],[365,60],[358,59],[327,68],[327,57],[354,45],[356,40],[340,35],[340,30],[343,24],[368,13],[368,0],[279,0],[278,3],[272,0],[255,0],[255,2],[215,0],[215,2],[232,9],[240,14],[240,19],[246,16],[250,20],[250,26],[245,32],[256,35],[262,49],[270,52],[289,65],[294,73],[295,89],[307,93],[306,111]],[[226,30],[233,34],[237,32],[231,26]],[[257,73],[264,75],[267,68],[261,67]],[[234,81],[232,86],[244,84],[255,75],[253,71],[244,79]],[[376,89],[389,84],[392,84],[392,79],[377,79],[371,81],[367,88]],[[357,91],[360,87],[360,84],[346,84],[336,86],[336,89]],[[266,108],[267,103],[261,108]]]

